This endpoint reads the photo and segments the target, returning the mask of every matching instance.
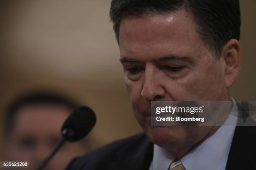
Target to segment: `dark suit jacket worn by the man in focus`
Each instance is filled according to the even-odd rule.
[[[153,143],[139,134],[75,158],[66,170],[148,170],[152,158]],[[236,127],[226,170],[256,170],[256,126]]]

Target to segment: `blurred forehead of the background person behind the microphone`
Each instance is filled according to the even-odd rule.
[[[59,134],[61,125],[69,113],[70,109],[64,105],[24,105],[16,112],[13,132],[22,134],[40,131]]]

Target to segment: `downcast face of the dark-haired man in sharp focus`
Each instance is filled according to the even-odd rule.
[[[215,60],[185,10],[126,17],[120,24],[120,56],[133,112],[153,143],[197,143],[213,127],[152,127],[152,100],[229,100],[225,62]]]

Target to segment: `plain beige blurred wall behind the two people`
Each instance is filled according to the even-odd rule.
[[[47,87],[67,92],[95,110],[92,135],[100,141],[97,145],[141,131],[123,83],[108,17],[110,2],[0,1],[1,115],[16,94]],[[241,11],[242,67],[232,96],[256,100],[256,1],[241,0]]]

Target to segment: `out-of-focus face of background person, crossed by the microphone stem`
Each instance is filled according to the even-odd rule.
[[[35,169],[61,140],[61,126],[70,112],[70,109],[61,105],[21,107],[9,135],[7,160],[29,161],[29,169]],[[66,143],[49,162],[46,170],[64,169],[72,158],[83,153],[78,144]]]

